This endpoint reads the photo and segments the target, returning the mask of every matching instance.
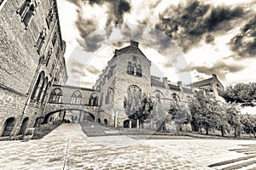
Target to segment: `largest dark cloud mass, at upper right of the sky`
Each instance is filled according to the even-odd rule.
[[[159,15],[160,21],[155,28],[165,31],[186,53],[204,38],[207,43],[214,42],[214,36],[229,31],[234,26],[233,22],[242,19],[245,14],[242,7],[213,7],[189,1],[185,5],[180,3],[166,8]]]

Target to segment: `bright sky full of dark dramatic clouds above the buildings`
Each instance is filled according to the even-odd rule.
[[[140,42],[154,76],[171,82],[188,72],[193,82],[212,73],[224,85],[256,82],[256,0],[58,0],[58,7],[67,84],[91,88],[129,40]]]

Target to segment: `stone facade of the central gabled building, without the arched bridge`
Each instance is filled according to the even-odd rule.
[[[131,41],[130,46],[115,50],[113,58],[96,81],[93,88],[100,92],[99,105],[113,116],[111,124],[115,127],[124,127],[124,122],[129,120],[130,115],[124,107],[126,101],[130,105],[129,98],[132,97],[129,90],[132,90],[131,95],[139,95],[138,99],[131,101],[131,107],[136,107],[135,102],[140,103],[143,96],[154,101],[160,98],[161,105],[166,109],[165,114],[174,98],[182,105],[191,99],[192,90],[189,87],[183,87],[182,82],[171,83],[167,78],[151,76],[150,66],[151,61],[138,48],[138,42]]]

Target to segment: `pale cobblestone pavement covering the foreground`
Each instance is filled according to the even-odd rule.
[[[253,169],[255,148],[253,140],[88,138],[79,124],[62,124],[44,139],[0,142],[0,169]]]

